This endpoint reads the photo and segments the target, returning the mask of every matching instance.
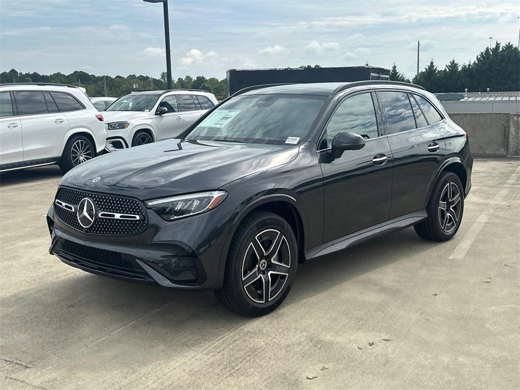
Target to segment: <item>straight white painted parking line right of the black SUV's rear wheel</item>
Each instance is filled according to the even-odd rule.
[[[505,182],[500,191],[498,191],[498,193],[495,195],[495,198],[493,198],[491,202],[489,202],[487,207],[484,209],[484,211],[480,213],[470,230],[466,232],[466,235],[462,238],[461,242],[459,242],[459,245],[457,245],[457,248],[455,248],[455,250],[451,253],[450,259],[459,260],[464,258],[467,251],[470,250],[473,241],[475,241],[475,239],[477,238],[478,233],[480,233],[480,230],[482,230],[488,219],[491,217],[491,215],[493,215],[493,213],[497,209],[498,204],[504,199],[509,189],[513,186],[513,184],[515,183],[515,181],[518,180],[519,177],[520,166],[516,168],[516,171],[513,172],[508,181]]]

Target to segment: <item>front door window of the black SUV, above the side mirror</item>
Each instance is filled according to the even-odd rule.
[[[340,132],[356,133],[365,138],[375,138],[379,135],[370,94],[349,97],[337,108],[327,125],[327,148],[331,147],[332,139]],[[324,145],[325,140],[320,148]]]

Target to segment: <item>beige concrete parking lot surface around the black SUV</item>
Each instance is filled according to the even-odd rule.
[[[256,319],[50,256],[59,177],[0,178],[2,389],[518,389],[518,159],[475,161],[453,240],[408,228],[305,263]]]

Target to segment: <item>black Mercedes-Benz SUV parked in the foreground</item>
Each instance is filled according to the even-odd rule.
[[[466,133],[417,85],[246,88],[178,139],[66,174],[49,252],[94,274],[212,289],[227,308],[264,315],[306,259],[408,226],[452,238],[472,164]]]

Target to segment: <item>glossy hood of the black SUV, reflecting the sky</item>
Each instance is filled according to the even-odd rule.
[[[87,161],[63,176],[61,185],[141,200],[161,198],[218,189],[286,164],[296,158],[298,150],[284,145],[168,139]]]

